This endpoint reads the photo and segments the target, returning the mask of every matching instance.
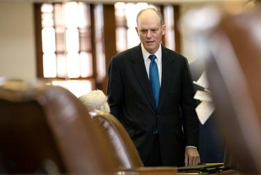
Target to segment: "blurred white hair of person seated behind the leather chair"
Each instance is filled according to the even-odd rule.
[[[110,112],[107,97],[100,90],[90,91],[89,93],[80,96],[79,99],[84,103],[89,112]]]

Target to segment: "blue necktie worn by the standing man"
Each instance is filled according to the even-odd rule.
[[[149,56],[150,59],[150,86],[152,87],[153,91],[153,97],[156,103],[156,107],[158,107],[159,104],[159,89],[160,89],[160,84],[159,84],[159,72],[158,72],[158,66],[155,61],[157,57],[154,54],[151,54]]]

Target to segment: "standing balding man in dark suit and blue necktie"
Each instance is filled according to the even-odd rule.
[[[137,15],[141,44],[111,59],[108,101],[145,166],[196,165],[198,119],[191,75],[187,59],[161,45],[165,28],[155,8]],[[150,60],[157,63],[158,93]]]

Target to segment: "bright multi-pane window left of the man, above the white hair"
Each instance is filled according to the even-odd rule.
[[[35,3],[35,18],[38,77],[76,96],[95,89],[96,78],[105,76],[104,52],[97,51],[104,47],[102,5]]]

